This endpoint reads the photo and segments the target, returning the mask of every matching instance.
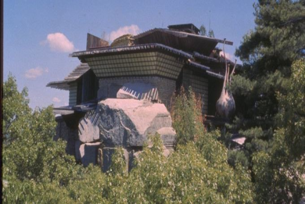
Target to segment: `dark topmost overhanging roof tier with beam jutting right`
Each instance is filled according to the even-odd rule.
[[[164,28],[155,28],[134,36],[135,44],[159,43],[184,50],[197,51],[204,55],[210,55],[217,43],[233,45],[233,42],[223,41],[208,36],[181,32]]]

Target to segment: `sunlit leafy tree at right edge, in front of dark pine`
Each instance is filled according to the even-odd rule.
[[[287,94],[278,93],[278,129],[271,149],[254,157],[258,202],[297,202],[305,192],[305,61],[292,66]]]

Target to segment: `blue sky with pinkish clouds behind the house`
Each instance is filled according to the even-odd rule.
[[[254,28],[255,1],[4,1],[4,80],[12,72],[18,88],[29,89],[30,106],[68,104],[68,91],[46,87],[63,80],[78,64],[69,53],[86,49],[87,32],[113,39],[193,23],[213,29],[215,38],[232,41]],[[222,45],[220,45],[222,46]]]

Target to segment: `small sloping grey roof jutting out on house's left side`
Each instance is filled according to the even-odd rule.
[[[89,65],[82,63],[77,66],[67,77],[62,81],[49,82],[48,87],[69,90],[69,83],[77,80],[79,77],[83,76],[90,69]]]

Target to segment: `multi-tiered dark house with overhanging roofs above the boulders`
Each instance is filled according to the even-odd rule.
[[[233,45],[200,35],[193,24],[123,35],[111,45],[88,33],[86,50],[71,54],[81,64],[63,81],[47,84],[69,90],[69,105],[54,108],[58,137],[74,141],[79,120],[101,100],[146,99],[170,109],[171,97],[182,85],[200,96],[203,114],[215,116],[225,73],[218,43]],[[70,154],[73,145],[67,146]]]

